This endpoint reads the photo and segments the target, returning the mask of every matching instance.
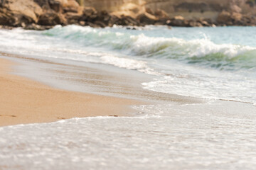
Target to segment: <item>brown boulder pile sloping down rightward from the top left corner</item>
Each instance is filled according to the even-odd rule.
[[[0,28],[23,27],[44,30],[55,25],[106,27],[142,26],[130,16],[114,16],[106,11],[96,11],[89,6],[79,6],[75,0],[0,0]]]

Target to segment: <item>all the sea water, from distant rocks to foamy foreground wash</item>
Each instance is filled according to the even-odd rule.
[[[255,169],[256,28],[0,30],[0,51],[153,77],[139,88],[204,103],[133,106],[132,118],[0,128],[0,169]]]

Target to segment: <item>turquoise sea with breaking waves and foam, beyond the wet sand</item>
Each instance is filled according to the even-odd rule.
[[[144,89],[256,103],[254,27],[56,26],[42,32],[1,30],[0,36],[2,51],[112,64],[156,75],[142,84]]]

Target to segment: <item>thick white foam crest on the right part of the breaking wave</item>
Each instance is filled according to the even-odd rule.
[[[138,54],[148,54],[164,50],[169,54],[184,55],[184,57],[204,57],[206,55],[222,53],[230,58],[241,55],[245,52],[256,50],[255,47],[232,45],[232,44],[215,44],[214,42],[204,39],[183,40],[181,38],[154,38],[147,37],[144,34],[132,35],[134,44],[132,50]]]

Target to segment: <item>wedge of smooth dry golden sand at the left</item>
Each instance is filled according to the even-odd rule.
[[[46,123],[100,115],[127,115],[139,104],[124,98],[54,89],[11,72],[15,63],[0,59],[0,126]]]

